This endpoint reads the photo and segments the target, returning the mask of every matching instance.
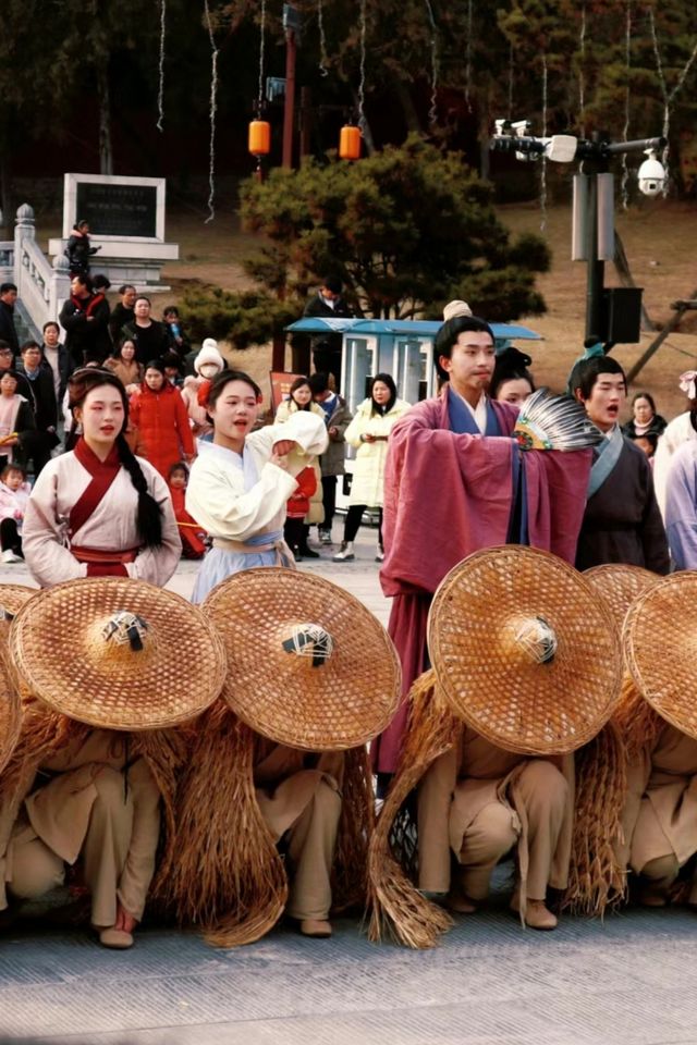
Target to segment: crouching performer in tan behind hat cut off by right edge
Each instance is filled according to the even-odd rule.
[[[647,907],[686,902],[697,909],[695,611],[697,575],[681,571],[637,599],[624,626],[637,699],[625,723],[626,798],[619,848],[629,895]]]

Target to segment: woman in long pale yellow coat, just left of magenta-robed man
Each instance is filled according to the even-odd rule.
[[[398,399],[396,385],[389,373],[378,373],[370,382],[370,395],[356,409],[354,419],[344,432],[344,439],[358,448],[353,468],[348,512],[344,522],[341,551],[335,563],[351,562],[353,542],[367,507],[378,509],[378,550],[376,561],[381,563],[382,550],[382,488],[388,438],[394,425],[409,409],[409,404]]]

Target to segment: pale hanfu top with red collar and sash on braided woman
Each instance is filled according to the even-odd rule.
[[[24,517],[23,553],[42,588],[80,577],[134,577],[163,588],[182,543],[164,479],[138,458],[148,492],[162,514],[162,543],[143,546],[138,493],[115,445],[106,460],[78,440],[49,462],[36,480]]]

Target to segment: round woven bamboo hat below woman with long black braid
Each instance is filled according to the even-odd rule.
[[[189,602],[130,577],[47,588],[10,626],[20,684],[56,711],[107,729],[186,722],[219,696],[225,654]]]

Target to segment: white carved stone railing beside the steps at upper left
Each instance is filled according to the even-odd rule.
[[[22,309],[38,332],[49,319],[58,319],[63,302],[70,297],[68,258],[58,255],[52,265],[46,258],[36,242],[34,210],[28,204],[17,210],[14,244],[8,246],[13,253],[9,279],[16,283]],[[4,247],[0,243],[0,266]]]

